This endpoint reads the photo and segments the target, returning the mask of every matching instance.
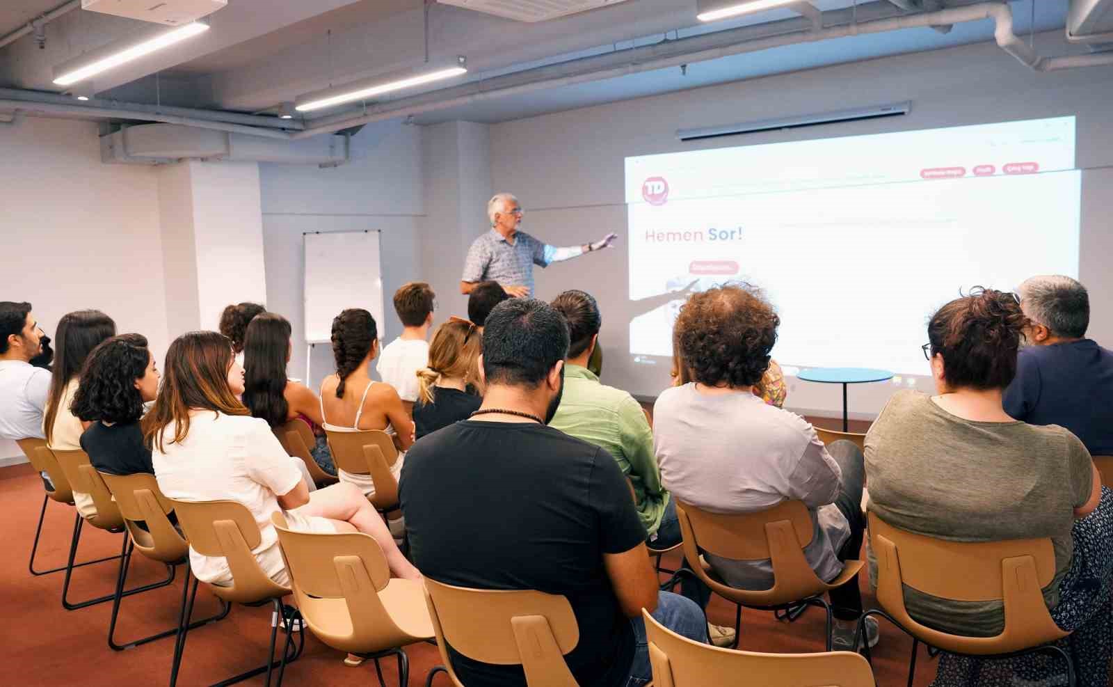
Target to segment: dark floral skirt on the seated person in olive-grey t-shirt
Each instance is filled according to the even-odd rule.
[[[1102,488],[1094,512],[1074,523],[1074,558],[1060,585],[1060,602],[1051,617],[1071,631],[1057,646],[1074,657],[1077,684],[1110,685],[1113,658],[1113,491]],[[1030,654],[1004,659],[979,659],[939,654],[932,687],[1036,687],[1066,685],[1061,656]]]

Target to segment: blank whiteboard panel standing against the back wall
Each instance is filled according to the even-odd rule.
[[[362,307],[383,335],[383,268],[378,232],[306,232],[305,342],[332,341],[333,318]]]

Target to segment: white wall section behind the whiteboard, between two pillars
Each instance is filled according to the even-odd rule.
[[[336,168],[259,165],[267,308],[293,325],[293,377],[305,375],[303,317],[304,232],[382,232],[383,296],[386,322],[380,336],[402,332],[391,296],[418,279],[418,232],[424,215],[421,128],[397,122],[365,127],[352,138],[352,161]],[[338,275],[342,278],[342,275]],[[314,346],[312,387],[334,371],[327,345]]]

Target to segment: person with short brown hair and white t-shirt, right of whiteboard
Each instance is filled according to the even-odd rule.
[[[411,282],[394,293],[394,312],[402,321],[402,335],[383,346],[375,370],[393,386],[406,412],[417,400],[417,371],[429,362],[429,327],[433,324],[436,294],[424,282]]]

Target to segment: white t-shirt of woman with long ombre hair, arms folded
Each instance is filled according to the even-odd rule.
[[[183,501],[229,500],[243,503],[259,526],[260,542],[252,552],[267,576],[279,585],[289,577],[278,550],[278,534],[270,514],[282,510],[276,494],[289,493],[302,481],[302,471],[283,450],[265,420],[211,411],[190,414],[189,432],[173,443],[174,424],[164,431],[162,451],[151,451],[155,478],[162,493]],[[285,511],[292,529],[334,532],[324,518]],[[190,548],[189,565],[197,579],[230,585],[232,571],[223,556],[201,556]]]

